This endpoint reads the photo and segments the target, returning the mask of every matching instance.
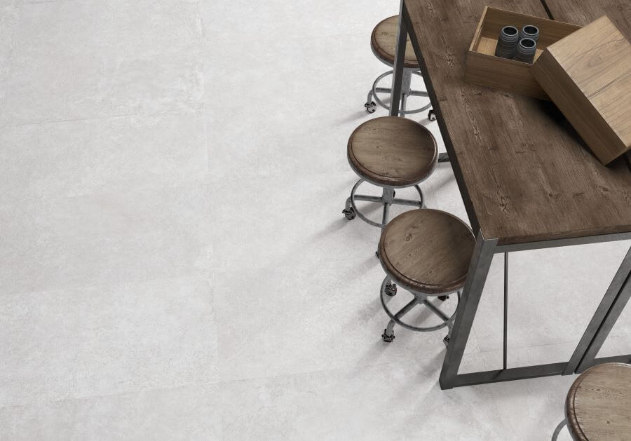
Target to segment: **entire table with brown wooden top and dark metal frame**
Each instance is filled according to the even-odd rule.
[[[583,372],[631,298],[631,249],[570,360],[510,367],[508,253],[631,239],[630,155],[602,165],[552,102],[463,81],[467,50],[485,6],[585,25],[609,15],[631,39],[629,0],[402,0],[398,48],[419,60],[454,175],[477,236],[440,373],[441,388]],[[391,115],[402,60],[395,60]],[[503,368],[459,374],[494,254],[504,254]],[[598,295],[598,293],[595,293]]]

